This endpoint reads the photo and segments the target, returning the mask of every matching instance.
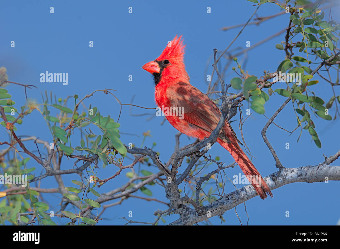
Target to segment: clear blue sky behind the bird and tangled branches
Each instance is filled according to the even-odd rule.
[[[176,34],[183,34],[187,44],[185,54],[186,70],[191,78],[191,84],[206,92],[206,65],[211,65],[212,49],[223,51],[234,39],[240,29],[227,32],[220,31],[223,26],[245,23],[255,11],[256,6],[245,0],[238,1],[7,1],[2,5],[2,38],[0,39],[0,67],[7,68],[10,81],[22,84],[32,84],[38,89],[28,90],[28,96],[41,103],[41,93],[47,90],[65,99],[68,95],[78,94],[80,98],[98,89],[115,89],[115,95],[122,103],[130,103],[144,107],[156,107],[154,101],[154,84],[150,73],[141,67],[157,58],[167,45],[167,41],[173,39]],[[54,14],[50,13],[50,7],[54,7]],[[133,13],[128,13],[132,7]],[[207,13],[207,7],[211,7],[211,13]],[[268,16],[280,12],[275,4],[264,4],[258,12],[258,16]],[[333,9],[333,19],[339,20],[339,7]],[[289,15],[289,14],[287,14]],[[251,46],[262,39],[286,28],[289,17],[281,15],[270,21],[263,22],[259,26],[248,26],[238,37],[231,49],[245,48],[246,41]],[[11,48],[11,41],[15,41],[15,47]],[[94,47],[89,47],[89,41],[94,42]],[[285,59],[283,50],[275,49],[275,44],[284,41],[284,34],[262,44],[248,53],[246,70],[249,74],[261,76],[263,70],[275,71],[279,63]],[[299,53],[296,51],[296,54]],[[303,56],[303,55],[302,55]],[[242,56],[240,56],[241,58]],[[210,60],[208,61],[208,59]],[[207,62],[208,61],[208,62]],[[316,64],[315,64],[316,65]],[[235,65],[232,65],[235,66]],[[68,73],[68,85],[62,83],[40,83],[40,73],[63,72]],[[212,67],[208,67],[209,74]],[[225,82],[237,75],[228,69]],[[129,75],[133,80],[129,81]],[[335,78],[333,76],[333,78]],[[317,78],[318,79],[318,78]],[[312,88],[313,87],[313,88]],[[274,85],[273,89],[285,88]],[[328,101],[332,89],[329,84],[321,80],[317,85],[311,86],[311,90],[318,96]],[[25,104],[23,88],[7,86],[9,93],[18,107]],[[336,95],[340,91],[335,87]],[[271,97],[266,103],[266,115],[271,116],[282,105],[285,98],[279,95]],[[97,106],[103,115],[110,115],[117,120],[119,104],[111,95],[95,93],[93,97],[84,102],[87,106]],[[71,102],[68,102],[72,105]],[[247,108],[244,101],[243,113]],[[152,113],[153,111],[131,108],[132,114]],[[329,110],[332,117],[335,108]],[[168,161],[173,152],[177,131],[168,123],[161,125],[163,118],[150,116],[130,115],[130,107],[124,106],[119,120],[120,131],[125,133],[121,140],[123,143],[134,143],[140,146],[142,133],[151,131],[152,137],[146,138],[144,146],[152,147],[156,142],[155,150],[160,152],[160,160]],[[237,114],[238,118],[239,115]],[[235,119],[235,118],[234,118]],[[339,118],[325,121],[321,118],[313,118],[316,130],[322,143],[322,148],[317,148],[311,142],[310,135],[304,130],[300,141],[296,140],[300,130],[296,130],[291,136],[289,133],[271,125],[267,131],[267,137],[272,143],[278,157],[285,167],[301,167],[316,165],[323,162],[323,154],[329,156],[339,150]],[[256,159],[254,165],[263,176],[275,171],[275,161],[268,148],[263,143],[260,131],[267,120],[263,115],[253,113],[243,125],[245,141]],[[287,130],[296,127],[296,118],[291,104],[278,115],[275,123]],[[238,120],[233,123],[238,137]],[[18,135],[34,135],[40,139],[51,140],[52,136],[38,112],[33,112],[30,117],[23,120],[21,126],[17,125]],[[76,132],[75,132],[76,133]],[[132,134],[132,135],[128,135]],[[137,135],[137,136],[136,136]],[[1,141],[8,139],[2,132]],[[80,135],[74,135],[74,143],[79,141]],[[181,136],[181,145],[184,146],[192,139]],[[286,149],[286,143],[290,148]],[[28,144],[34,150],[34,144]],[[234,160],[220,145],[216,144],[209,150],[212,157],[220,156],[221,161],[227,164]],[[124,161],[125,162],[125,161]],[[130,163],[126,160],[126,163]],[[64,160],[63,169],[72,167],[72,160]],[[336,161],[334,165],[339,165]],[[40,167],[30,160],[28,167]],[[215,168],[209,168],[208,173]],[[140,166],[140,169],[156,172],[155,168]],[[210,170],[211,169],[211,170]],[[180,169],[180,171],[183,169]],[[98,176],[103,179],[113,175],[117,167],[107,166],[98,171]],[[119,177],[111,180],[99,189],[100,193],[117,188],[125,183],[128,178],[125,170]],[[238,174],[240,168],[226,170],[229,178]],[[76,175],[64,177],[66,186],[74,186],[71,180],[79,180]],[[56,187],[54,179],[45,178],[42,181],[45,188]],[[183,185],[183,184],[182,184]],[[183,186],[180,187],[183,188]],[[273,190],[274,198],[261,200],[259,197],[246,202],[250,225],[334,225],[340,218],[339,206],[340,182],[329,183],[293,183]],[[242,185],[238,185],[242,187]],[[149,187],[153,197],[167,201],[164,190],[153,185]],[[228,192],[234,191],[232,184],[226,185]],[[97,190],[98,191],[98,190]],[[148,197],[138,191],[135,195]],[[58,210],[60,195],[43,195],[51,201],[54,210]],[[105,204],[116,202],[113,200]],[[152,222],[155,219],[154,211],[165,210],[166,205],[141,199],[129,198],[121,205],[114,206],[105,211],[105,219],[99,225],[125,224],[119,217],[128,217],[128,212],[133,211],[131,219],[136,221]],[[286,211],[290,217],[286,217]],[[246,224],[247,216],[243,204],[237,207],[242,224]],[[223,215],[226,220],[224,225],[239,225],[234,210],[229,210]],[[167,223],[179,218],[178,215],[165,217]],[[60,224],[65,224],[65,219],[58,219]],[[130,219],[130,218],[129,218]],[[212,224],[219,225],[218,217],[210,219]],[[160,222],[160,225],[163,223]]]

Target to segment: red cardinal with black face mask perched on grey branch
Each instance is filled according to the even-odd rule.
[[[164,115],[170,124],[187,136],[202,140],[216,128],[221,111],[209,97],[190,84],[183,62],[185,45],[181,39],[182,36],[177,38],[176,35],[157,59],[142,68],[153,74],[156,103],[162,110],[167,110]],[[262,199],[267,197],[266,192],[273,197],[267,183],[238,145],[228,121],[225,121],[217,142],[230,152]]]

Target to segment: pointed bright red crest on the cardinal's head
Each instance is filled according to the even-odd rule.
[[[182,35],[180,37],[175,36],[172,41],[168,42],[167,47],[163,50],[162,54],[157,58],[157,60],[175,60],[177,62],[183,62],[185,44],[183,44]]]

